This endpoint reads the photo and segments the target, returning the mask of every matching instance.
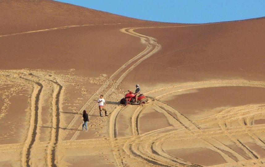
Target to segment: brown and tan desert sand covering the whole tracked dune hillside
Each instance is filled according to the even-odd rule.
[[[0,166],[265,163],[264,17],[160,23],[49,0],[0,11]],[[148,103],[120,105],[135,84]]]

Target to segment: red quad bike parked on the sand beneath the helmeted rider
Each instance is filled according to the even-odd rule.
[[[140,105],[140,104],[145,104],[145,103],[147,103],[148,99],[146,99],[145,95],[140,94],[140,95],[137,97],[138,103],[136,103],[136,100],[135,100],[135,94],[132,93],[132,91],[129,91],[129,90],[128,90],[128,92],[129,92],[129,93],[127,93],[127,94],[125,95],[125,97],[122,98],[122,99],[120,100],[120,104],[126,106],[126,105],[128,105],[128,104],[129,104],[129,105],[130,105],[130,104]]]

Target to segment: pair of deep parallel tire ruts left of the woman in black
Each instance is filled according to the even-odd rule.
[[[22,149],[22,166],[31,166],[33,163],[30,159],[33,160],[33,157],[35,157],[32,153],[33,149],[36,152],[38,146],[44,146],[48,148],[47,151],[45,151],[45,166],[57,166],[56,164],[56,146],[58,144],[59,140],[59,124],[60,124],[60,95],[61,91],[63,89],[63,86],[58,83],[57,81],[53,81],[50,79],[47,79],[45,77],[45,73],[43,72],[37,72],[36,75],[32,74],[32,71],[6,71],[4,72],[6,76],[9,76],[12,74],[14,77],[11,78],[11,80],[17,80],[20,79],[21,82],[25,82],[27,85],[31,85],[33,87],[32,95],[31,95],[31,118],[30,118],[30,125],[29,125],[29,132],[25,141],[25,144]],[[39,76],[37,76],[39,75]],[[40,129],[41,127],[41,104],[42,101],[41,98],[43,98],[43,93],[45,92],[45,89],[48,87],[53,86],[53,98],[52,98],[52,128],[51,128],[51,135],[50,139],[48,141],[48,144],[44,144],[47,142],[40,142]],[[47,90],[46,90],[47,91]],[[37,143],[36,143],[37,142]],[[7,147],[7,146],[6,146]],[[32,157],[33,156],[33,157]],[[36,159],[35,159],[36,160]]]

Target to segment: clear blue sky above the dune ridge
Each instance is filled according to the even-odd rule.
[[[265,16],[265,0],[57,0],[137,19],[210,23]]]

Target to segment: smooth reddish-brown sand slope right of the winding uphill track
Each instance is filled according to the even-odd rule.
[[[127,81],[264,80],[265,18],[135,31],[156,38],[162,49],[131,72]],[[139,75],[142,72],[145,75]]]

